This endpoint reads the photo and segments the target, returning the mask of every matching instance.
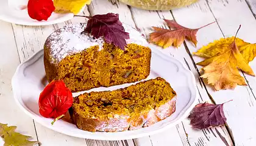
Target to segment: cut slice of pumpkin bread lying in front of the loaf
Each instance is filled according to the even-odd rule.
[[[77,128],[87,131],[126,131],[148,127],[176,110],[176,92],[157,77],[114,91],[74,97],[69,113]]]

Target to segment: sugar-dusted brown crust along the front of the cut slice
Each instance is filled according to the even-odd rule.
[[[157,78],[158,79],[158,78]],[[162,79],[161,79],[162,80]],[[134,86],[134,85],[133,85]],[[135,85],[136,86],[136,85]],[[124,88],[125,89],[125,88]],[[122,90],[122,89],[121,89]],[[104,91],[111,92],[111,91]],[[69,109],[71,118],[77,128],[86,131],[105,131],[116,132],[126,130],[137,130],[142,127],[149,127],[160,120],[166,119],[176,111],[176,92],[170,100],[160,106],[156,106],[154,109],[141,111],[135,116],[129,116],[129,114],[118,115],[114,114],[112,117],[100,118],[100,117],[83,117],[80,116],[75,110],[74,106]],[[171,95],[166,95],[171,96]],[[74,103],[79,103],[79,99],[75,97]]]

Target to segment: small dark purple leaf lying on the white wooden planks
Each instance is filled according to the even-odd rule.
[[[192,109],[188,119],[193,128],[202,130],[209,127],[216,127],[226,123],[223,105],[211,103],[199,103]]]

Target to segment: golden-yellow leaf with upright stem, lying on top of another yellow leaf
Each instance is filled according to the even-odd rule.
[[[200,54],[201,56],[208,55],[208,57],[210,57],[197,63],[198,65],[204,66],[204,68],[202,68],[204,74],[202,74],[201,77],[207,78],[208,84],[213,85],[216,91],[220,89],[234,89],[236,85],[246,85],[238,69],[241,69],[249,75],[254,75],[254,72],[247,63],[248,61],[243,58],[243,55],[238,50],[235,40],[234,37],[231,44],[227,46],[224,45],[222,46],[223,48],[212,47],[212,49],[208,49],[212,52],[203,55]],[[214,50],[218,53],[215,54]],[[211,57],[212,55],[213,57]]]

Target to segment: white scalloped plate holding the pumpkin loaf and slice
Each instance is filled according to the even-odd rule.
[[[170,117],[151,125],[150,127],[139,130],[121,131],[115,133],[95,132],[79,130],[76,125],[58,120],[51,125],[53,119],[44,118],[38,112],[38,97],[48,83],[45,81],[45,72],[43,64],[43,50],[37,52],[29,60],[18,66],[15,75],[12,78],[13,96],[20,108],[32,117],[36,122],[44,127],[69,136],[81,137],[86,139],[98,140],[123,140],[133,139],[142,136],[148,136],[167,130],[185,119],[197,100],[196,82],[192,72],[188,71],[182,63],[172,57],[162,54],[160,51],[151,47],[151,73],[146,80],[155,77],[163,77],[169,82],[177,92],[176,111]],[[133,83],[134,84],[134,83]],[[124,88],[129,84],[112,86],[109,88],[94,88],[90,91],[105,91],[118,88]],[[87,92],[90,92],[87,91]],[[79,93],[75,93],[79,94]],[[74,94],[73,94],[74,95]]]

